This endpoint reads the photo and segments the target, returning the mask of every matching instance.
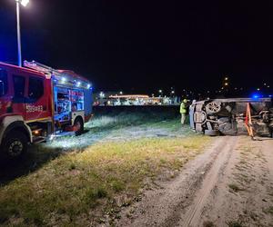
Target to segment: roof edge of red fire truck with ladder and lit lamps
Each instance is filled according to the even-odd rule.
[[[76,86],[79,88],[84,88],[84,89],[90,89],[91,88],[91,84],[89,84],[88,82],[84,81],[82,78],[80,78],[80,76],[71,73],[68,71],[58,71],[56,69],[53,69],[52,67],[46,66],[45,64],[40,64],[37,63],[35,61],[32,62],[28,62],[28,61],[24,61],[24,66],[27,68],[31,68],[34,69],[36,71],[42,72],[45,74],[45,76],[50,75],[54,75],[55,78],[55,82],[56,84],[66,84],[66,85],[71,85],[71,86]]]

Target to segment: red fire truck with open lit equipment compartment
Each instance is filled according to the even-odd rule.
[[[86,78],[44,64],[0,63],[0,157],[13,159],[66,133],[80,134],[92,116],[92,86]]]

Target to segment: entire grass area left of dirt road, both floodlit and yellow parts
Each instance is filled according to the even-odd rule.
[[[147,130],[137,139],[109,139],[116,131],[129,132],[139,125],[167,133],[181,128],[176,119],[157,124],[155,119],[132,117],[134,126],[128,126],[124,118],[113,123],[101,116],[87,124],[88,133],[56,142],[81,143],[85,138],[84,146],[64,149],[55,143],[41,144],[21,163],[2,171],[0,225],[93,226],[106,222],[105,217],[118,218],[121,206],[139,200],[143,188],[151,187],[161,174],[179,170],[212,140],[198,135],[158,137],[157,133],[147,137]],[[90,140],[96,133],[103,136]]]

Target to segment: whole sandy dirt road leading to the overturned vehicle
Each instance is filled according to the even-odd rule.
[[[218,137],[117,226],[273,226],[273,140]]]

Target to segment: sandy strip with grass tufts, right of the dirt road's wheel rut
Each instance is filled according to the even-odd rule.
[[[200,223],[214,226],[273,226],[273,141],[238,138],[225,172],[202,212]],[[198,226],[201,226],[199,224]]]

